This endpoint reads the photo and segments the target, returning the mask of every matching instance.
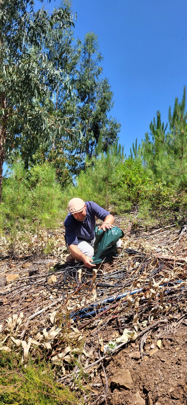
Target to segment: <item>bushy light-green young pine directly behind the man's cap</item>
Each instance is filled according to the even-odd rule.
[[[98,144],[99,146],[99,144]],[[112,209],[115,205],[117,210],[124,208],[123,192],[117,188],[119,178],[116,168],[125,160],[124,148],[116,142],[108,148],[107,152],[99,151],[98,156],[85,160],[85,170],[82,170],[75,180],[75,185],[63,192],[63,200],[66,200],[64,211],[68,204],[68,198],[79,197],[83,200],[92,200],[105,209]]]

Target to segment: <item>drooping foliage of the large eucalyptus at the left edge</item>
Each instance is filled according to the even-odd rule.
[[[63,8],[49,15],[43,8],[34,12],[33,0],[0,0],[0,195],[4,160],[52,143],[56,133],[78,135],[69,117],[51,113],[57,80],[68,91],[64,72],[47,56],[47,33],[58,41],[56,23],[74,24]]]

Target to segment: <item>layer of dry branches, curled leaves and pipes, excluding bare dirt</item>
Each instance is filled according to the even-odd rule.
[[[186,237],[180,243],[185,246]],[[140,245],[144,246],[139,241]],[[19,283],[11,287],[4,286],[1,279],[2,305],[17,303],[18,314],[2,318],[4,339],[0,349],[22,347],[25,366],[29,351],[32,358],[38,350],[45,351],[45,358],[56,367],[58,381],[76,389],[81,375],[84,390],[83,376],[93,377],[100,367],[104,370],[104,360],[121,347],[160,324],[170,328],[172,322],[176,323],[176,315],[178,324],[186,316],[186,257],[176,255],[171,246],[170,254],[164,255],[148,245],[125,246],[111,264],[94,270],[86,269],[81,262],[59,262],[51,271],[46,273],[45,267],[40,274],[30,269],[28,277],[19,278]],[[110,333],[115,329],[118,339]],[[8,341],[11,344],[7,345]],[[89,395],[92,401],[101,396],[87,394],[85,388],[85,403]]]

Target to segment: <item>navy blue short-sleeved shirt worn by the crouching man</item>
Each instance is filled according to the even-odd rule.
[[[78,245],[77,239],[83,239],[83,241],[90,242],[94,239],[94,228],[96,225],[96,218],[104,221],[107,215],[110,215],[108,211],[101,208],[93,201],[86,201],[86,217],[84,221],[77,221],[74,216],[69,213],[64,221],[65,226],[65,240],[69,245]]]

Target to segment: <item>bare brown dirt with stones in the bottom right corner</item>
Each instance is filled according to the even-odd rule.
[[[157,341],[161,341],[160,348]],[[187,326],[168,333],[158,328],[147,336],[142,357],[136,341],[106,362],[106,401],[108,405],[187,404],[186,364]],[[104,373],[101,378],[106,386]]]

